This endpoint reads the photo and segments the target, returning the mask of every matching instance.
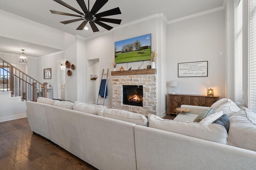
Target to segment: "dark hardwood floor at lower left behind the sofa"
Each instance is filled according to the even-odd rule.
[[[28,119],[0,123],[1,170],[97,170],[30,130]]]

